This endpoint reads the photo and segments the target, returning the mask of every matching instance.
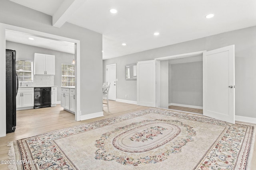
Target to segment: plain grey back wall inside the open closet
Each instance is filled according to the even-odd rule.
[[[203,62],[169,64],[169,104],[203,107]]]

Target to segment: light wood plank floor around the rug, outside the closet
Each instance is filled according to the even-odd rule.
[[[74,114],[64,111],[60,105],[57,105],[56,107],[17,111],[16,131],[14,133],[8,133],[6,137],[0,138],[0,160],[9,159],[9,147],[7,147],[8,141],[15,141],[26,137],[32,137],[75,125],[90,123],[149,108],[121,102],[109,102],[110,112],[108,112],[107,107],[104,107],[104,117],[84,121],[75,121]],[[256,160],[256,145],[254,145],[254,156],[252,160]],[[7,170],[7,166],[8,165],[6,164],[0,164],[0,170]],[[256,161],[252,161],[251,169],[256,169]]]

